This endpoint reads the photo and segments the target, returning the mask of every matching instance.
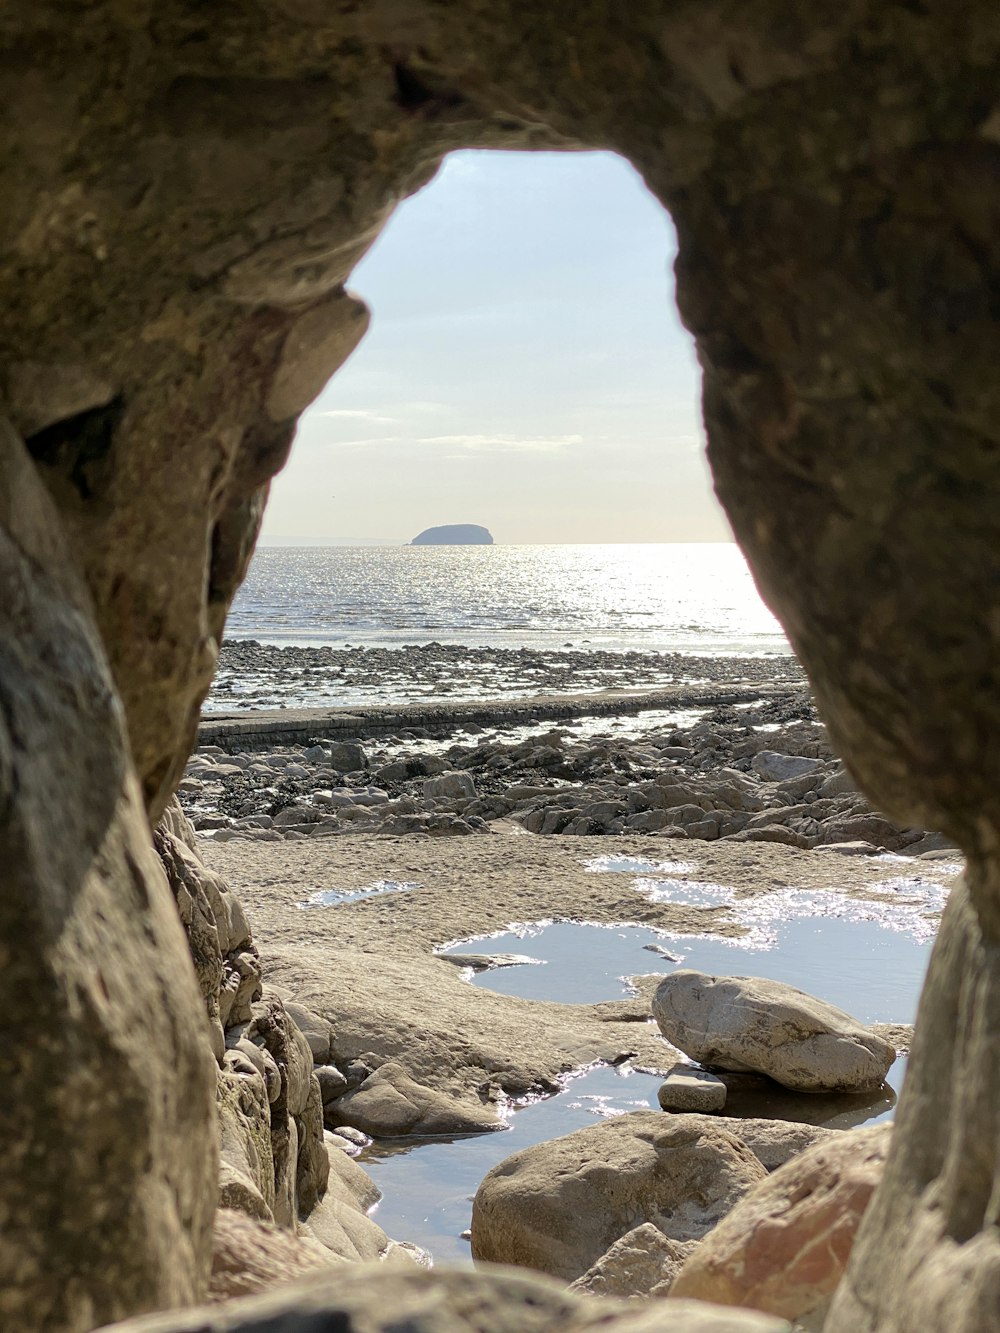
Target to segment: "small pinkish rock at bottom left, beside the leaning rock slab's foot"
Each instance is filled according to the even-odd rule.
[[[329,1268],[337,1258],[311,1236],[220,1208],[212,1229],[212,1277],[208,1297],[231,1301],[296,1281]]]

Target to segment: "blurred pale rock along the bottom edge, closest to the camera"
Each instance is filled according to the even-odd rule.
[[[669,1333],[791,1333],[785,1320],[676,1301]],[[575,1296],[536,1274],[340,1266],[264,1296],[153,1314],[113,1333],[664,1333],[664,1306]],[[101,1333],[111,1333],[104,1329]]]

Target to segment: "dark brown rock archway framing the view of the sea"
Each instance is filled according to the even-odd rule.
[[[839,745],[969,857],[828,1328],[989,1326],[993,8],[45,0],[3,25],[8,1325],[199,1288],[211,1069],[133,772],[156,816],[267,481],[364,328],[340,284],[449,148],[584,145],[675,219],[716,485]]]

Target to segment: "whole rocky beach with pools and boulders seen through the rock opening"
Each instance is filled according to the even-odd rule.
[[[220,706],[241,673],[261,706]],[[293,1272],[475,1256],[819,1326],[845,1252],[749,1292],[740,1209],[833,1192],[792,1272],[853,1233],[961,858],[859,793],[793,659],[229,643],[179,800],[164,836],[248,922],[220,1294],[275,1281],[237,1214],[289,1214]]]

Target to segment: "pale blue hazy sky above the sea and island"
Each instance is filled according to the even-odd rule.
[[[304,413],[263,540],[731,540],[675,249],[613,153],[452,153],[348,281],[372,324]]]

